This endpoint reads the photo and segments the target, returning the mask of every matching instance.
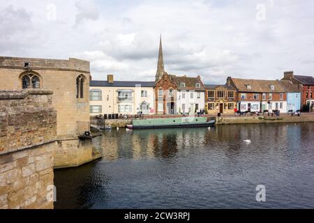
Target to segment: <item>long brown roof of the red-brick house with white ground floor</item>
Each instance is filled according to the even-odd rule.
[[[263,80],[263,79],[231,79],[234,86],[242,92],[259,92],[259,93],[281,93],[285,92],[284,87],[278,80]],[[248,85],[251,89],[248,89]],[[274,90],[271,90],[271,85],[275,86]]]

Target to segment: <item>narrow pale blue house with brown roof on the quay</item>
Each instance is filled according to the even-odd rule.
[[[301,109],[301,90],[298,84],[281,80],[281,85],[287,93],[287,112],[297,112]]]

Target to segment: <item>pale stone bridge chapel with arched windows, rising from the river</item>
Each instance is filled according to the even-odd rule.
[[[55,167],[93,160],[79,137],[89,131],[89,61],[0,57],[0,89],[50,89],[57,109]],[[42,121],[45,121],[43,116]]]

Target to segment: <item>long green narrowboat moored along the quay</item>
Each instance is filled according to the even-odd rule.
[[[192,128],[192,127],[211,127],[215,121],[207,121],[206,117],[184,117],[184,118],[150,118],[133,119],[132,125],[127,125],[129,129],[145,128]]]

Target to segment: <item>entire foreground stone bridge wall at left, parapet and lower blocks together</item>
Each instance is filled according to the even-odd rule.
[[[52,91],[0,91],[0,209],[53,208],[56,138]]]

